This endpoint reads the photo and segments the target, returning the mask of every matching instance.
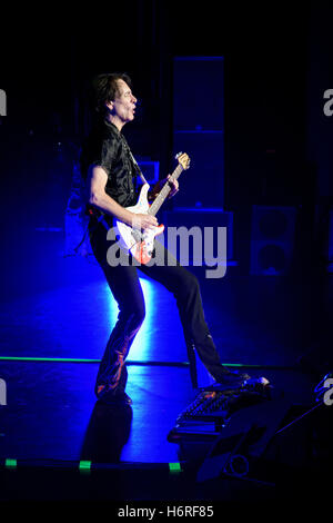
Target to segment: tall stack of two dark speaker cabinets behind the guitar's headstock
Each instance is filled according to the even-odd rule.
[[[223,57],[175,57],[173,152],[188,152],[176,205],[222,207],[224,189]]]

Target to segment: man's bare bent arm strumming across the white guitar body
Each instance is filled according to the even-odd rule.
[[[159,225],[154,216],[131,213],[119,205],[111,196],[107,195],[107,181],[108,175],[102,167],[90,167],[88,172],[88,198],[90,205],[114,216],[118,220],[131,227],[134,226],[134,223],[138,224],[138,220],[142,229],[157,227]]]

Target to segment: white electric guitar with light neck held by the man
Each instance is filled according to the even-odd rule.
[[[150,205],[148,201],[148,190],[150,185],[148,182],[143,184],[137,205],[132,207],[127,207],[128,210],[134,214],[148,214],[155,216],[155,214],[161,208],[163,201],[169,196],[171,187],[169,181],[176,180],[183,170],[190,168],[190,158],[185,152],[179,152],[175,156],[178,160],[178,166],[168,179],[168,181],[162,187],[161,191],[155,197],[154,201]],[[159,225],[153,229],[140,229],[140,224],[138,228],[133,228],[129,225],[125,225],[123,221],[114,220],[114,229],[119,236],[119,243],[128,253],[142,265],[148,264],[151,260],[153,248],[154,248],[154,238],[164,230],[164,225]]]

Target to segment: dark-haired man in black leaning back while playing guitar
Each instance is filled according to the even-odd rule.
[[[144,318],[144,299],[135,266],[108,264],[110,241],[98,215],[102,213],[110,227],[114,217],[130,226],[139,219],[143,230],[155,227],[158,220],[154,216],[138,215],[127,209],[138,199],[135,178],[139,169],[121,132],[135,114],[137,98],[131,90],[131,80],[123,73],[100,75],[94,89],[100,119],[83,145],[81,171],[87,179],[89,204],[95,210],[90,220],[91,246],[119,306],[118,322],[97,376],[95,394],[107,403],[131,403],[124,392],[128,377],[125,358]],[[173,196],[179,187],[176,181],[171,185],[170,195]],[[249,375],[231,372],[221,364],[204,319],[195,276],[178,262],[172,266],[141,265],[139,268],[173,294],[186,343],[195,347],[211,376],[219,383],[235,385],[249,379]]]

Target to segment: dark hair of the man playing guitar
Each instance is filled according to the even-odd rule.
[[[105,103],[113,101],[119,95],[118,80],[123,80],[132,87],[132,81],[125,72],[105,72],[93,79],[94,106],[101,115],[105,114]]]

